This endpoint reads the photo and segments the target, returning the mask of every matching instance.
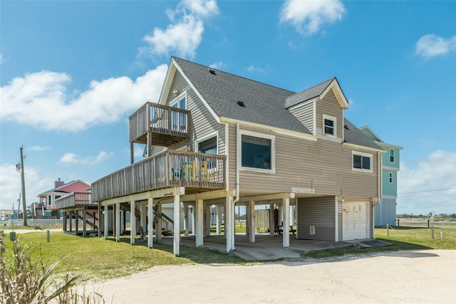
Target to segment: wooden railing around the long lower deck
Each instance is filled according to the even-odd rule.
[[[167,187],[223,189],[226,157],[167,151],[109,174],[92,184],[92,201]]]

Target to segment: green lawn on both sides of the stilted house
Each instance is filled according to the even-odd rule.
[[[244,228],[244,227],[243,227]],[[238,227],[241,229],[241,227]],[[245,230],[245,228],[244,228]],[[440,237],[443,233],[443,238]],[[379,251],[423,250],[423,249],[456,249],[456,229],[436,228],[434,239],[431,239],[431,229],[398,227],[389,229],[375,229],[376,239],[393,243],[393,246],[373,248],[339,248],[328,251],[306,253],[304,258],[325,258],[343,256],[346,254],[363,254]],[[247,261],[219,251],[207,248],[190,248],[181,246],[180,257],[172,254],[172,246],[154,243],[154,248],[147,248],[145,241],[136,241],[130,245],[130,236],[121,236],[120,243],[113,238],[105,240],[98,237],[82,238],[51,231],[51,241],[46,241],[46,233],[31,232],[16,234],[22,246],[28,245],[33,249],[33,256],[41,254],[41,260],[46,265],[68,256],[58,272],[71,271],[83,273],[85,278],[108,279],[126,276],[130,273],[145,271],[153,266],[185,265],[192,263],[247,263]],[[3,258],[12,258],[12,242],[8,235],[4,237],[2,248]]]

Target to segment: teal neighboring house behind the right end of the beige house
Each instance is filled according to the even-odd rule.
[[[375,226],[396,224],[396,199],[398,198],[399,152],[403,147],[390,145],[378,137],[368,126],[360,127],[369,139],[379,145],[385,154],[382,156],[382,196],[380,204],[375,205]]]

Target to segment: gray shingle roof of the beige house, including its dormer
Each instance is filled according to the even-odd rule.
[[[296,94],[222,70],[173,58],[219,117],[254,122],[309,135],[311,132],[286,108],[320,95],[334,79],[331,78]],[[213,73],[210,73],[210,70]],[[237,103],[238,100],[244,103],[244,107]],[[344,123],[348,127],[348,130],[344,130],[346,142],[380,149],[351,122],[345,119]]]

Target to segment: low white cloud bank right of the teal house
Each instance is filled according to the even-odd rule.
[[[455,152],[435,151],[416,169],[401,163],[398,214],[456,213],[455,172]]]

